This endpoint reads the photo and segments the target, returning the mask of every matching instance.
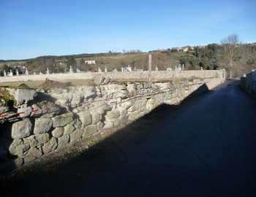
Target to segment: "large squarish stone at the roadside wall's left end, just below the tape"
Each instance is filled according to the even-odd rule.
[[[29,118],[12,124],[12,138],[23,138],[29,136],[32,131],[32,123]]]

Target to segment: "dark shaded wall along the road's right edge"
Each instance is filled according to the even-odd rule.
[[[246,92],[256,98],[256,71],[246,74],[246,77],[241,77],[240,86]]]

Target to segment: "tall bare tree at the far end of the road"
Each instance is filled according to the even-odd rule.
[[[239,46],[240,40],[238,34],[230,34],[221,40],[222,60],[225,67],[230,71],[230,78],[233,78],[234,66],[240,60]]]

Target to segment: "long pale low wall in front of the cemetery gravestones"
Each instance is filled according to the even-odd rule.
[[[153,71],[152,80],[170,80],[172,78],[216,78],[222,79],[221,70],[211,71]],[[59,80],[90,80],[96,76],[110,77],[111,80],[147,80],[148,72],[86,72],[67,74],[33,74],[13,77],[0,77],[0,82],[44,81],[46,78]]]

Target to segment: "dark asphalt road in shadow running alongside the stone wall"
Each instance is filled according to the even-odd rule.
[[[256,102],[238,82],[162,107],[6,196],[255,196]],[[1,194],[0,194],[1,195]]]

